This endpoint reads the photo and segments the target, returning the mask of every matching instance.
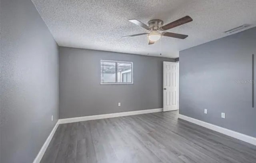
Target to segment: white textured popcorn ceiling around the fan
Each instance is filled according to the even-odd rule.
[[[59,46],[176,58],[178,51],[256,24],[256,0],[32,0]],[[147,32],[128,19],[164,24],[189,15],[193,22],[168,30],[188,38],[162,37],[148,45]]]

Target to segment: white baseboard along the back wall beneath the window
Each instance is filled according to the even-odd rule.
[[[90,116],[85,116],[85,117],[66,118],[66,119],[59,119],[59,124],[73,123],[73,122],[80,122],[80,121],[89,121],[89,120],[95,120],[95,119],[113,118],[113,117],[123,117],[123,116],[128,116],[128,115],[156,113],[156,112],[161,112],[161,111],[163,111],[163,109],[158,108],[158,109],[127,111],[127,112],[101,114],[101,115],[90,115]]]

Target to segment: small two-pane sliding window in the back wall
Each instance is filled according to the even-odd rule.
[[[132,62],[100,60],[100,84],[132,83]]]

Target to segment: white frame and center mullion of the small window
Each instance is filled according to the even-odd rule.
[[[102,83],[102,76],[101,76],[101,62],[114,62],[116,64],[116,82],[112,82],[112,83]],[[117,80],[117,64],[118,63],[124,63],[124,64],[131,64],[132,65],[132,70],[131,70],[131,78],[132,78],[132,82],[131,83],[118,83]],[[128,84],[133,84],[133,62],[130,61],[120,61],[120,60],[100,60],[100,85],[128,85]]]

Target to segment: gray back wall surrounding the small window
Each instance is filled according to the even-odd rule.
[[[132,61],[134,84],[100,85],[101,59]],[[161,108],[163,61],[173,59],[60,47],[60,118]]]

